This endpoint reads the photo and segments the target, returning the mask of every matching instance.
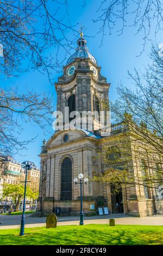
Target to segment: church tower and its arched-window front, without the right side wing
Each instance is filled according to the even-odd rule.
[[[102,111],[106,112],[109,108],[109,86],[81,33],[76,51],[67,59],[63,75],[55,83],[57,111],[62,113],[64,125],[63,129],[56,129],[46,143],[43,142],[38,202],[41,212],[56,211],[57,208],[62,214],[80,211],[80,189],[73,179],[82,173],[84,178],[90,180],[102,172],[101,159],[98,157],[101,151],[100,121],[103,120]],[[105,109],[103,101],[108,102]],[[70,114],[77,111],[80,117],[86,113],[84,126],[82,119],[74,130],[67,129],[67,122],[76,117],[70,115],[67,118],[65,108],[68,108]],[[89,115],[92,117],[91,126]],[[104,115],[104,123],[105,121]],[[85,212],[89,212],[90,205],[95,205],[100,198],[104,199],[102,184],[92,181],[84,184]]]

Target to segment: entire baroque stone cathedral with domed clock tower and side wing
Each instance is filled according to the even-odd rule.
[[[162,212],[162,198],[146,193],[138,185],[112,193],[114,185],[92,181],[92,177],[103,173],[105,163],[99,153],[103,141],[114,144],[117,136],[125,132],[123,124],[108,124],[104,116],[104,127],[99,124],[95,112],[104,111],[102,102],[108,102],[110,83],[101,75],[101,67],[89,52],[83,34],[77,41],[76,51],[67,59],[63,75],[55,83],[57,111],[62,113],[63,129],[56,129],[47,142],[43,142],[40,154],[40,190],[37,211],[42,215],[60,212],[60,215],[76,215],[80,212],[80,186],[74,178],[83,174],[89,181],[83,182],[84,214],[96,214],[98,207],[108,207],[109,214],[124,213],[134,216],[148,216]],[[67,129],[65,108],[69,113],[92,113],[92,125],[87,119],[85,126],[76,125]],[[71,121],[71,115],[68,117]],[[86,116],[87,118],[87,116]],[[57,124],[56,124],[57,127]],[[133,172],[137,169],[134,164]],[[153,199],[155,198],[155,199]]]

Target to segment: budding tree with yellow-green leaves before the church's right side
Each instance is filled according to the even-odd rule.
[[[118,131],[114,144],[105,140],[105,172],[96,181],[149,189],[163,185],[163,58],[156,46],[151,58],[145,74],[129,74],[135,91],[121,84],[120,97],[110,104],[113,119],[122,122],[124,130]]]

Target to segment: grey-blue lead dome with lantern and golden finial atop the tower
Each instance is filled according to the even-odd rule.
[[[92,62],[97,64],[95,57],[89,52],[88,48],[86,47],[86,40],[83,37],[83,33],[80,34],[80,38],[77,41],[78,47],[76,48],[76,52],[74,52],[66,62],[66,65],[73,62],[76,58],[89,58]]]

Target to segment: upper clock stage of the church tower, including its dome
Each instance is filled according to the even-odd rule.
[[[62,112],[65,126],[68,121],[76,117],[73,113],[71,115],[71,112],[79,112],[78,116],[81,120],[76,126],[99,134],[102,121],[103,125],[106,124],[110,84],[106,83],[106,78],[101,75],[101,67],[89,52],[83,33],[80,34],[77,45],[76,52],[67,59],[63,68],[64,74],[55,83],[57,111]],[[103,101],[108,102],[107,109],[104,109]],[[66,107],[69,109],[69,116]]]

